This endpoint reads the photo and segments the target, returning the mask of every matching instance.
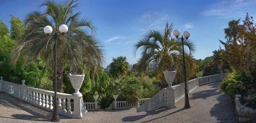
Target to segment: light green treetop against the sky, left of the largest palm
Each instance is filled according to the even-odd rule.
[[[11,30],[10,30],[11,38],[14,40],[19,40],[22,37],[25,29],[25,26],[22,24],[22,20],[14,17],[11,14],[10,23],[11,23]]]

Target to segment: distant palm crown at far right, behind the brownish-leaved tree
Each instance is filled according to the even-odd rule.
[[[239,34],[239,23],[240,19],[228,22],[228,27],[224,29],[226,39],[231,40],[233,38],[234,41],[237,40],[237,36]]]

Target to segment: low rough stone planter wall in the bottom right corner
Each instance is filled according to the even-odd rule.
[[[256,123],[256,109],[246,107],[240,103],[241,95],[236,95],[234,102],[236,104],[235,114],[238,123]]]

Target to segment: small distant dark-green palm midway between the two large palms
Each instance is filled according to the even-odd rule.
[[[127,62],[127,58],[123,56],[119,56],[117,58],[112,59],[112,63],[110,63],[109,72],[114,76],[124,76],[129,71],[129,63]]]

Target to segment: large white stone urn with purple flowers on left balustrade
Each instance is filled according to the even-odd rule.
[[[75,89],[73,96],[75,97],[82,96],[82,93],[80,93],[79,90],[82,86],[84,77],[85,77],[84,73],[83,75],[71,75],[71,73],[69,73],[69,79],[71,81],[73,88]]]

